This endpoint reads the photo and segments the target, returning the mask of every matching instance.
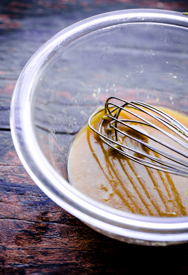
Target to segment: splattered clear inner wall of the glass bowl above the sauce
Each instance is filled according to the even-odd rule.
[[[32,118],[43,153],[67,180],[70,144],[109,96],[188,113],[187,72],[183,26],[143,20],[78,36],[53,52],[36,80]]]

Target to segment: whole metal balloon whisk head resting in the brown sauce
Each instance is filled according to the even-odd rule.
[[[121,104],[111,100],[118,100]],[[105,115],[101,117],[98,129],[95,129],[91,121],[101,111],[105,111]],[[125,114],[128,118],[125,118]],[[88,125],[104,143],[128,159],[154,169],[188,177],[188,129],[166,112],[143,102],[109,97],[105,108],[90,116]],[[144,127],[154,129],[153,135],[150,134],[152,131],[146,131]],[[133,140],[144,149],[140,150],[140,146],[130,147],[126,144],[126,139]]]

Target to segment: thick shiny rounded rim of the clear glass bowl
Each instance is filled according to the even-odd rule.
[[[99,28],[133,22],[155,22],[188,27],[188,16],[158,9],[129,9],[103,13],[61,30],[47,40],[27,62],[15,86],[10,128],[17,154],[28,174],[60,207],[83,222],[129,238],[151,241],[188,240],[188,217],[160,218],[126,213],[87,197],[65,181],[45,158],[34,135],[31,105],[34,84],[53,57],[72,41]],[[43,64],[43,67],[41,67]],[[27,92],[25,92],[27,91]]]

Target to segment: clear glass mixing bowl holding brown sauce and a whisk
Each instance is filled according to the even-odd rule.
[[[70,186],[67,154],[76,133],[109,96],[188,115],[188,16],[121,10],[85,19],[48,40],[18,78],[13,142],[35,183],[60,207],[111,238],[142,245],[188,241],[188,218],[110,208]]]

